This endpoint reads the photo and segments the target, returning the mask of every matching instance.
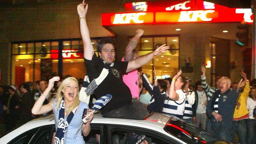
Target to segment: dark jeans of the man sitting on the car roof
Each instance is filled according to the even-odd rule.
[[[104,117],[107,118],[126,118],[132,120],[144,120],[148,115],[147,109],[139,101],[132,101],[128,105],[124,105],[118,109],[115,109],[107,114]]]

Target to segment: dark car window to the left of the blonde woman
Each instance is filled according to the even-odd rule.
[[[21,135],[13,138],[13,140],[8,142],[7,144],[28,144],[28,142],[30,142],[30,139],[36,133],[37,129],[38,128],[30,129],[29,131],[26,131]]]

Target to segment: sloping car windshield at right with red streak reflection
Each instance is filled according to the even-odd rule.
[[[206,144],[217,141],[210,133],[175,116],[171,116],[164,130],[188,143]]]

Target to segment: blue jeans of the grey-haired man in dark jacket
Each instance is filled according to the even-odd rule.
[[[232,126],[224,126],[221,124],[220,126],[213,126],[211,127],[212,134],[216,136],[219,140],[225,140],[230,142],[231,135],[232,135]]]

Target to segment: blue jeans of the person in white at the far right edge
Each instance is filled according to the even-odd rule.
[[[247,119],[247,144],[256,142],[256,120]]]

